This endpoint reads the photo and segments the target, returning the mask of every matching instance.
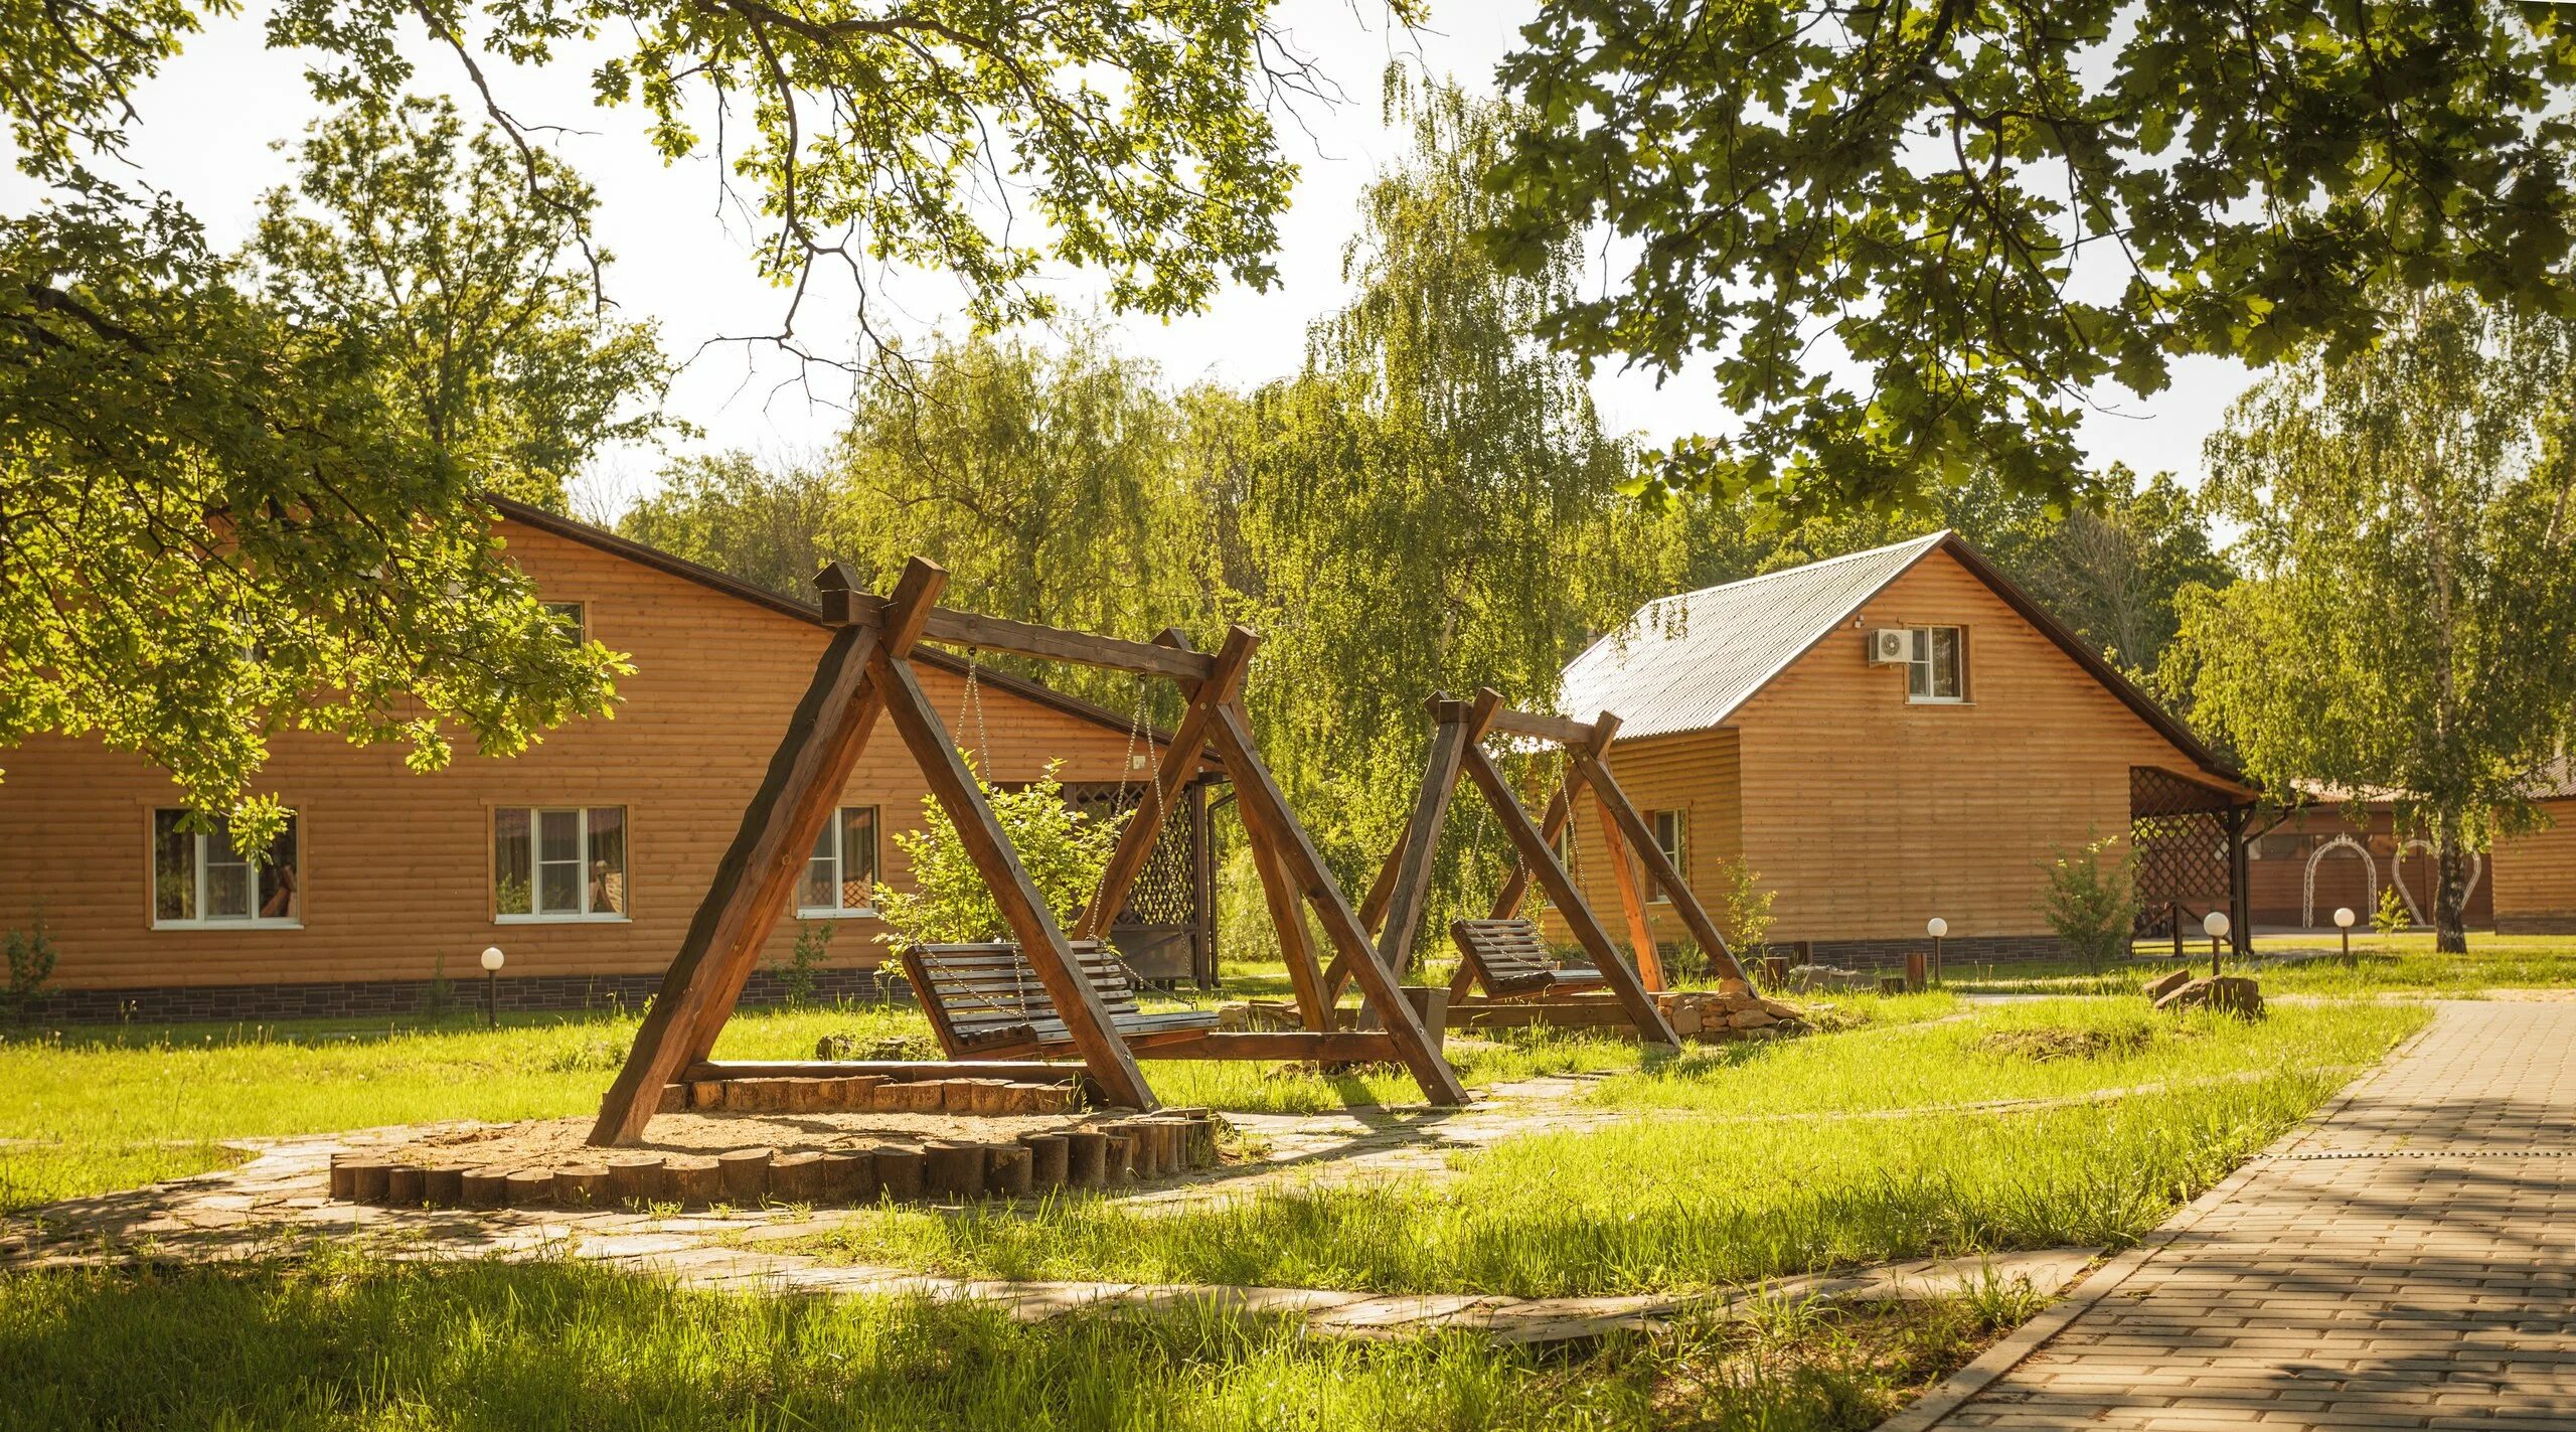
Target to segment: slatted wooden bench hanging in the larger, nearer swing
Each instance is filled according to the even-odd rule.
[[[1139,1010],[1126,963],[1103,940],[1074,940],[1074,961],[1100,994],[1110,1033],[1123,1041],[1216,1028],[1213,1010]],[[930,1015],[930,1030],[951,1056],[1072,1043],[1072,1030],[1020,945],[907,945],[904,971]]]

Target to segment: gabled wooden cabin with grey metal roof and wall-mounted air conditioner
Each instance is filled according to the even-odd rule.
[[[1610,762],[1664,853],[1710,907],[1744,863],[1801,958],[1888,963],[1932,917],[1947,958],[2053,956],[2040,863],[2099,837],[2136,850],[2141,935],[2246,930],[2251,788],[1955,533],[1649,603],[1558,708],[1623,719]],[[1589,816],[1571,863],[1615,909]]]

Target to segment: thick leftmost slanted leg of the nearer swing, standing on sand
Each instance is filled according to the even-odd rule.
[[[824,646],[626,1066],[600,1100],[592,1144],[641,1138],[662,1089],[714,1048],[876,724],[878,701],[866,680],[876,649],[878,631],[868,626],[845,626]]]

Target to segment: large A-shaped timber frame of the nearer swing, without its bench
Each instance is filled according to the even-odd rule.
[[[1242,711],[1244,667],[1252,662],[1260,636],[1244,626],[1226,634],[1224,649],[1200,654],[1167,631],[1157,641],[1121,641],[1025,621],[1002,621],[945,610],[938,605],[948,587],[948,572],[935,561],[914,556],[904,564],[902,579],[886,598],[873,598],[858,587],[855,574],[827,567],[814,585],[822,590],[824,621],[835,628],[824,646],[814,680],[806,685],[788,729],[770,757],[768,775],[742,811],[742,827],[732,847],[716,865],[706,899],[690,919],[680,953],[662,976],[662,989],[636,1028],[634,1048],[608,1095],[600,1100],[600,1118],[590,1131],[595,1146],[626,1146],[644,1138],[644,1126],[659,1113],[665,1089],[685,1079],[773,1077],[773,1074],[855,1074],[902,1071],[909,1077],[940,1077],[945,1071],[969,1074],[1069,1074],[1072,1064],[1002,1064],[1002,1061],[783,1061],[783,1064],[716,1064],[708,1056],[716,1035],[724,1033],[768,943],[770,930],[786,914],[804,873],[806,855],[817,834],[840,804],[842,786],[858,765],[868,737],[881,716],[894,721],[896,734],[912,752],[922,780],[940,811],[958,829],[966,858],[984,876],[1010,940],[1046,986],[1066,1038],[1082,1059],[1079,1069],[1110,1105],[1154,1110],[1159,1100],[1136,1066],[1136,1053],[1110,1028],[1092,981],[1072,953],[1072,940],[1105,935],[1110,919],[1126,904],[1128,891],[1144,873],[1154,840],[1162,834],[1162,814],[1177,804],[1182,788],[1198,773],[1200,755],[1213,747],[1226,762],[1236,788],[1236,806],[1252,837],[1255,858],[1262,863],[1265,883],[1275,868],[1288,891],[1311,901],[1342,956],[1358,956],[1363,992],[1373,1010],[1381,1010],[1383,1030],[1345,1033],[1329,1025],[1306,1033],[1234,1033],[1198,1030],[1180,1043],[1157,1043],[1154,1056],[1164,1059],[1386,1059],[1399,1061],[1422,1084],[1422,1095],[1435,1105],[1463,1105],[1466,1087],[1440,1059],[1437,1041],[1422,1028],[1414,1007],[1396,992],[1394,979],[1378,963],[1360,917],[1342,899],[1332,871],[1316,855],[1314,842],[1288,811],[1278,783],[1252,749],[1252,726]],[[969,646],[976,652],[1002,652],[1048,662],[1079,662],[1090,667],[1170,677],[1188,693],[1188,713],[1172,731],[1170,744],[1154,770],[1157,798],[1136,806],[1108,871],[1090,907],[1074,922],[1072,935],[1056,925],[1020,868],[1010,837],[994,822],[984,791],[958,755],[956,739],[922,693],[912,670],[912,649],[920,641]],[[1273,896],[1275,901],[1278,896]],[[1275,907],[1275,904],[1273,904]],[[1311,956],[1309,956],[1311,963]],[[1293,968],[1293,961],[1291,961]],[[1316,976],[1321,986],[1321,976]]]

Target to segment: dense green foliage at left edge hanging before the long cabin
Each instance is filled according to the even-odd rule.
[[[582,216],[435,106],[322,121],[247,252],[77,175],[0,227],[0,747],[98,734],[206,811],[291,726],[484,752],[605,711],[487,487],[559,495],[652,397],[649,330],[567,288]],[[250,801],[258,847],[276,809]]]

